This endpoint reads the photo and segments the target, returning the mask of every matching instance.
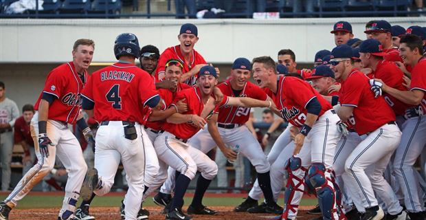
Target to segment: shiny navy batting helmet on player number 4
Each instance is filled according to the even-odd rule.
[[[139,41],[135,34],[123,33],[117,36],[114,44],[115,58],[122,55],[131,55],[139,58]]]

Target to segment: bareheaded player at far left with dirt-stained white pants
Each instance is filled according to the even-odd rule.
[[[38,162],[0,202],[0,219],[8,219],[10,210],[18,201],[50,173],[56,156],[68,171],[65,198],[58,219],[73,217],[87,165],[68,124],[77,123],[85,131],[85,136],[91,133],[80,115],[80,93],[87,81],[87,68],[93,58],[94,47],[93,41],[78,39],[72,50],[73,61],[56,67],[47,75],[45,87],[34,104],[36,113],[30,124]]]

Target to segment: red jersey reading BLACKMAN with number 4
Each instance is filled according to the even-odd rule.
[[[153,78],[144,70],[128,63],[115,63],[94,72],[82,96],[95,103],[98,121],[128,121],[143,124],[141,109],[158,96]]]

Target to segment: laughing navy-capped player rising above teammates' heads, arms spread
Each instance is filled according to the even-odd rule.
[[[194,45],[199,40],[197,26],[192,23],[183,24],[177,39],[181,44],[168,47],[159,57],[156,70],[157,78],[159,80],[164,78],[164,70],[168,60],[177,59],[183,63],[182,82],[190,86],[195,85],[200,68],[207,65],[203,56],[194,50]]]

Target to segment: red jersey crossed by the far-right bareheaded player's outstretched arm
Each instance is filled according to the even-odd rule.
[[[404,74],[395,63],[390,61],[381,61],[377,63],[376,71],[374,71],[373,74],[374,78],[383,80],[386,85],[401,91],[407,91],[407,88],[403,85]],[[385,101],[388,102],[389,106],[394,109],[396,115],[405,115],[405,109],[410,107],[409,104],[405,104],[389,94],[384,93],[383,98],[385,98]]]

